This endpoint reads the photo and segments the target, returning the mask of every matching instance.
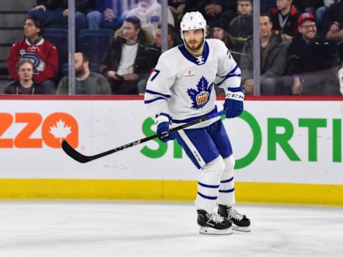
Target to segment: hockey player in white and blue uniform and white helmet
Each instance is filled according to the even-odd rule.
[[[156,119],[161,141],[176,138],[201,170],[195,200],[200,233],[230,234],[250,231],[249,218],[234,206],[234,157],[220,117],[171,132],[184,124],[217,112],[214,84],[226,92],[227,118],[242,114],[241,72],[224,42],[205,39],[207,22],[199,13],[184,14],[180,23],[184,44],[166,51],[148,79],[144,103]],[[214,210],[218,203],[218,213]],[[232,226],[233,225],[233,226]]]

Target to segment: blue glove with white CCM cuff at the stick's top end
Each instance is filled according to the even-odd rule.
[[[229,88],[225,97],[224,109],[227,110],[227,118],[234,118],[242,114],[244,90],[242,88]]]

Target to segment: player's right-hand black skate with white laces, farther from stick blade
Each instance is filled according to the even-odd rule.
[[[234,208],[218,205],[218,213],[220,216],[227,218],[232,222],[232,229],[236,231],[249,232],[250,220],[245,215],[238,213]]]

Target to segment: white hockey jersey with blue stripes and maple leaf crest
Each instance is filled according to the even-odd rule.
[[[184,124],[217,112],[214,84],[227,92],[240,82],[241,71],[224,42],[206,39],[204,55],[199,57],[181,44],[159,57],[147,82],[144,104],[153,118],[169,114],[173,124]]]

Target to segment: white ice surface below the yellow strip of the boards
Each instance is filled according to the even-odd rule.
[[[250,233],[198,233],[192,203],[0,201],[1,257],[343,256],[343,208],[239,204]]]

